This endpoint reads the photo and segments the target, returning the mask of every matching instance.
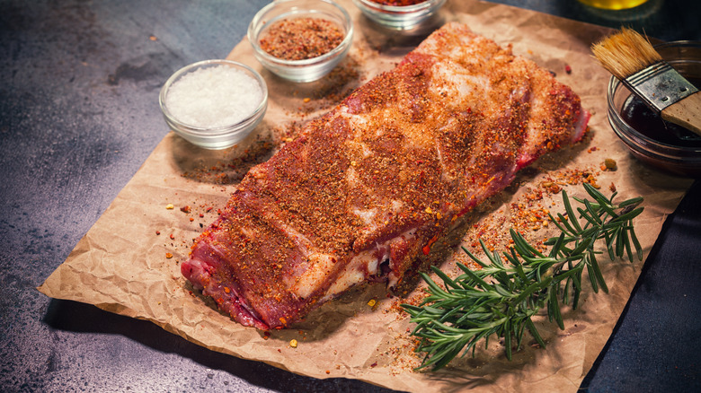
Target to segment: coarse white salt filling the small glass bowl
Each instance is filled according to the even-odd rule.
[[[253,77],[226,65],[200,68],[173,83],[165,106],[179,122],[214,128],[239,123],[262,101],[261,85]]]

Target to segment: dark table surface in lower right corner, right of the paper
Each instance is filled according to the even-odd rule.
[[[701,180],[664,223],[626,310],[582,389],[701,391],[699,201]]]

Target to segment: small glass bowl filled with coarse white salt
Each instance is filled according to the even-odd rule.
[[[204,60],[176,71],[164,83],[159,103],[175,134],[205,149],[226,149],[261,122],[268,87],[248,65]]]

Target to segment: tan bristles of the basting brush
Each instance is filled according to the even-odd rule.
[[[662,57],[652,44],[637,31],[623,28],[591,47],[594,57],[618,79],[661,62]]]

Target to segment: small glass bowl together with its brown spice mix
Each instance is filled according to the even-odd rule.
[[[278,0],[248,27],[261,64],[293,82],[312,82],[331,72],[351,48],[351,16],[331,0]]]

